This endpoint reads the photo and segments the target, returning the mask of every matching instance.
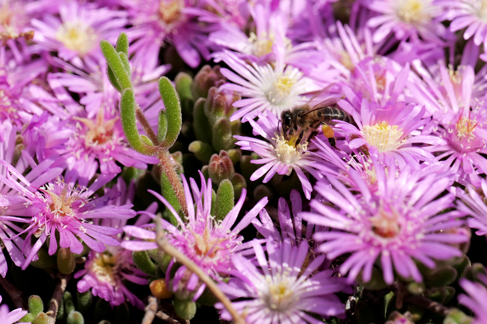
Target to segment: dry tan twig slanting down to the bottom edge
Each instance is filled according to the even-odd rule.
[[[190,258],[188,258],[186,255],[182,254],[179,252],[174,246],[172,246],[165,238],[164,231],[161,228],[161,220],[160,218],[156,218],[156,226],[157,226],[157,238],[156,242],[157,245],[159,246],[159,249],[167,253],[169,256],[172,256],[176,259],[179,260],[182,264],[186,266],[186,268],[191,271],[192,273],[196,273],[198,277],[200,278],[201,281],[203,281],[206,284],[206,287],[208,287],[211,292],[215,295],[216,298],[218,298],[223,306],[228,310],[230,315],[233,318],[233,323],[234,324],[245,324],[245,319],[242,317],[236,310],[233,308],[232,303],[226,297],[226,295],[218,288],[218,286],[215,284],[213,279],[211,279],[196,263],[194,263]]]

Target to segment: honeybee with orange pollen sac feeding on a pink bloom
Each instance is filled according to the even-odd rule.
[[[335,132],[331,127],[336,123],[332,120],[343,120],[349,123],[354,123],[354,120],[352,116],[343,110],[330,107],[337,103],[340,98],[324,99],[328,96],[331,86],[329,85],[319,91],[305,104],[282,112],[282,133],[286,139],[291,139],[293,133],[298,132],[300,129],[299,137],[295,144],[298,145],[302,140],[309,141],[315,137],[318,134],[318,127],[322,126],[323,135],[328,138],[330,145],[338,150]]]

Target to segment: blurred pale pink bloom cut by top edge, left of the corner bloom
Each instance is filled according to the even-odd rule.
[[[442,7],[433,0],[373,0],[367,7],[379,15],[367,21],[368,27],[377,27],[373,34],[374,43],[381,42],[393,33],[398,40],[408,37],[438,42],[438,36],[446,34],[446,28],[435,18],[442,13]]]

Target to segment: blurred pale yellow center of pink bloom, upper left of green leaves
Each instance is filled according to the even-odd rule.
[[[56,32],[56,39],[67,49],[86,55],[96,46],[98,36],[94,29],[82,21],[66,21]]]

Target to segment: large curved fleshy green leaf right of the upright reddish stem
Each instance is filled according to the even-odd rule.
[[[169,149],[169,147],[174,144],[181,131],[181,104],[176,89],[171,81],[165,76],[159,78],[159,93],[161,94],[162,101],[166,107],[166,115],[168,118],[168,132],[162,146]]]

